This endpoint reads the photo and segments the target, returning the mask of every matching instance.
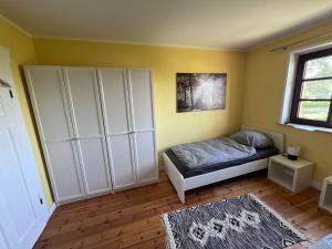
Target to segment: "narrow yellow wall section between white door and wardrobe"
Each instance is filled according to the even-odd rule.
[[[35,54],[32,39],[29,35],[22,33],[15,27],[11,25],[7,20],[0,18],[0,45],[9,49],[13,80],[17,85],[20,104],[23,111],[23,116],[25,118],[30,141],[34,153],[34,158],[37,160],[38,170],[46,198],[46,204],[50,207],[52,204],[52,196],[45,175],[44,164],[41,157],[41,151],[39,149],[37,141],[37,133],[32,123],[32,113],[29,110],[27,92],[24,90],[24,85],[22,83],[19,70],[19,65],[21,64],[35,63]]]

